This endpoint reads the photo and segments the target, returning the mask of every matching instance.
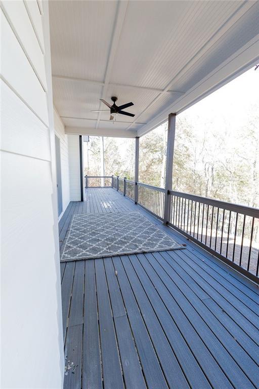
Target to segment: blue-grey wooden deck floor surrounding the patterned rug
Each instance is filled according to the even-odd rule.
[[[114,189],[88,189],[71,215],[139,210]],[[169,227],[186,249],[61,264],[70,389],[259,387],[259,291]],[[115,275],[115,270],[117,275]]]

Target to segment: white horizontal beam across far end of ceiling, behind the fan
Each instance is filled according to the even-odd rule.
[[[74,135],[91,135],[91,136],[108,136],[113,138],[136,138],[137,131],[125,131],[116,129],[101,128],[83,128],[83,127],[65,127],[65,134]]]

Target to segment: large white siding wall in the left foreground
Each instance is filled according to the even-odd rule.
[[[61,388],[48,3],[1,7],[1,385]]]

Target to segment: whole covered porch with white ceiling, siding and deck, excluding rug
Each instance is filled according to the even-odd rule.
[[[2,386],[258,388],[259,210],[172,169],[177,115],[258,64],[259,2],[0,6]],[[167,118],[158,188],[139,140]],[[84,177],[89,136],[135,140],[132,180]],[[60,263],[72,215],[131,211],[183,249]]]

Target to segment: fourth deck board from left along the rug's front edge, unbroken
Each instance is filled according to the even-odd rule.
[[[103,259],[95,259],[97,302],[105,389],[123,389],[109,293]]]

